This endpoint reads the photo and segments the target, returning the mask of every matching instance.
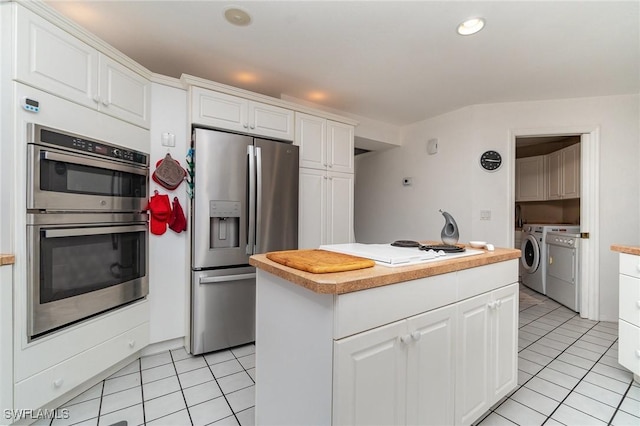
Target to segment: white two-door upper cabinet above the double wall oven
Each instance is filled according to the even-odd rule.
[[[16,80],[149,128],[148,79],[22,7],[16,52]]]

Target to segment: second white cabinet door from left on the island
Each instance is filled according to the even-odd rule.
[[[454,422],[456,307],[408,320],[412,342],[407,363],[407,424]]]

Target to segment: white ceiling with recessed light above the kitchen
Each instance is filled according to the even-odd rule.
[[[640,92],[637,0],[46,3],[153,72],[395,125],[473,104]],[[251,25],[226,22],[230,5]],[[457,35],[475,16],[485,28]]]

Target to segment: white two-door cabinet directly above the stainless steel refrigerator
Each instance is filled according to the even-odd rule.
[[[293,140],[293,111],[226,93],[193,87],[194,124],[269,138]]]

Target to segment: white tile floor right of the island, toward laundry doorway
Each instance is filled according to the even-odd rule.
[[[518,386],[476,424],[640,426],[640,385],[618,364],[618,324],[520,286]]]

